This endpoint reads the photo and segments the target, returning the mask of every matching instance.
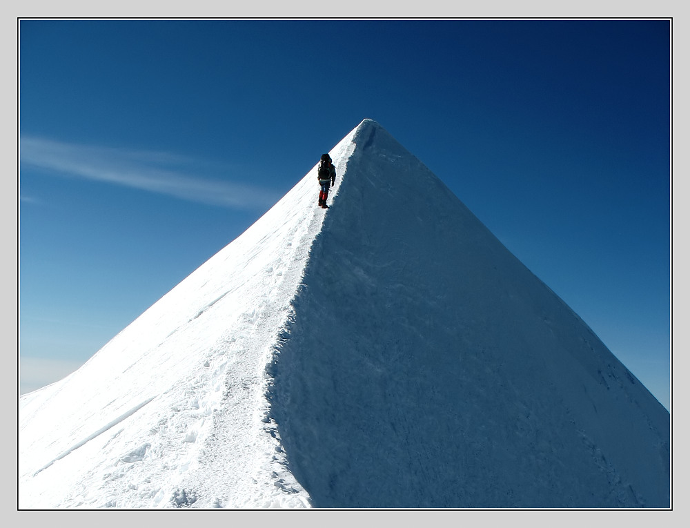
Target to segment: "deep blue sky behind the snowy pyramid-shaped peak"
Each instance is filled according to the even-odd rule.
[[[368,117],[669,407],[670,21],[19,30],[22,359],[87,360]]]

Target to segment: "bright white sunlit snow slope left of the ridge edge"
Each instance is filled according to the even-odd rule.
[[[352,135],[331,151],[341,170]],[[308,505],[266,418],[266,365],[317,195],[314,167],[81,369],[21,396],[20,508]]]

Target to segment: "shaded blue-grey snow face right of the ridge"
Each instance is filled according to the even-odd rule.
[[[272,413],[317,507],[669,507],[669,413],[373,121]]]

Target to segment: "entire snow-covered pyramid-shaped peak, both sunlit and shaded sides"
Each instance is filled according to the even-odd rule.
[[[320,154],[320,153],[319,153]],[[81,369],[19,507],[669,507],[669,413],[365,120]]]

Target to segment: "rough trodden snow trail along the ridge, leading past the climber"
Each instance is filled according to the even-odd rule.
[[[352,139],[353,133],[331,150],[339,171],[331,195],[334,199],[346,172],[347,159],[354,149]],[[213,415],[213,425],[203,439],[197,440],[204,444],[198,467],[195,471],[187,471],[175,487],[168,486],[165,496],[184,491],[195,498],[194,507],[310,506],[308,493],[290,472],[282,439],[275,420],[271,420],[269,386],[275,346],[289,324],[290,302],[299,293],[314,240],[330,211],[317,207],[315,179],[316,166],[295,186],[294,199],[288,198],[284,203],[288,208],[279,207],[277,214],[271,213],[273,218],[267,219],[268,224],[287,222],[293,226],[287,239],[276,242],[281,246],[281,256],[275,261],[280,261],[278,268],[273,268],[273,262],[264,262],[272,275],[281,275],[279,283],[270,293],[257,295],[258,304],[254,305],[250,320],[242,329],[234,329],[237,343],[233,349],[237,352],[233,353],[225,371],[224,395],[218,412]],[[259,228],[257,233],[261,237],[263,231]],[[263,289],[264,285],[260,287]],[[244,432],[238,435],[237,431]],[[239,457],[242,462],[238,462],[239,458],[218,457],[216,451],[242,452]]]

